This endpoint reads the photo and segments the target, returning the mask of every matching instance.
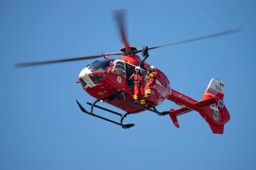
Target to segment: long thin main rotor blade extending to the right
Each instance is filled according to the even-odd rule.
[[[155,48],[160,48],[160,47],[164,47],[164,46],[171,46],[171,45],[179,45],[179,44],[182,44],[182,43],[189,43],[189,42],[192,42],[192,41],[198,41],[198,40],[207,39],[207,38],[214,38],[214,37],[218,37],[218,36],[225,36],[227,34],[234,34],[234,33],[237,33],[237,32],[241,32],[242,30],[243,30],[242,28],[230,29],[228,31],[217,32],[215,34],[210,34],[210,35],[207,35],[207,36],[201,36],[201,37],[198,37],[198,38],[187,39],[185,41],[178,41],[176,43],[170,43],[168,45],[153,46],[153,47],[148,48],[148,50],[153,50]],[[141,52],[141,51],[142,51],[142,49],[138,50],[138,52]]]

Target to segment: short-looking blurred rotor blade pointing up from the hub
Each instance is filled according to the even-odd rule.
[[[118,29],[119,29],[120,34],[121,34],[122,43],[125,46],[125,52],[130,53],[131,48],[130,48],[129,43],[128,43],[127,38],[126,38],[125,26],[124,26],[124,24],[125,24],[125,22],[124,22],[125,10],[116,10],[116,11],[114,11],[114,13],[115,13],[116,23],[118,24]]]

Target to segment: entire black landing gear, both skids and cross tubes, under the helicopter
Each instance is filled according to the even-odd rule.
[[[124,96],[124,99],[122,99],[122,97],[120,97],[120,95]],[[121,113],[117,113],[116,111],[112,111],[112,110],[108,110],[106,108],[102,108],[98,105],[96,105],[96,103],[98,103],[99,101],[104,101],[105,99],[97,99],[94,103],[87,103],[91,106],[91,110],[90,111],[87,111],[83,108],[83,106],[76,100],[79,108],[81,109],[81,111],[83,111],[84,113],[88,114],[88,115],[91,115],[93,117],[97,117],[97,118],[100,118],[102,120],[106,120],[108,122],[111,122],[113,124],[116,124],[116,125],[120,125],[122,128],[124,129],[129,129],[130,127],[133,127],[134,124],[123,124],[123,121],[124,121],[124,118],[127,117],[127,115],[130,115],[132,113],[137,113],[138,111],[142,111],[142,110],[148,110],[148,111],[152,111],[154,113],[157,113],[157,115],[160,115],[160,116],[164,116],[164,115],[168,115],[170,113],[170,111],[162,111],[162,112],[159,112],[156,110],[156,106],[157,104],[156,103],[153,103],[152,101],[148,101],[148,100],[145,100],[147,103],[150,103],[152,105],[150,106],[142,106],[142,105],[139,105],[139,104],[134,104],[130,101],[127,100],[127,95],[131,96],[131,94],[128,94],[127,92],[124,92],[122,90],[118,90],[118,92],[116,92],[114,90],[114,95],[112,97],[116,98],[116,99],[119,99],[120,101],[124,101],[125,103],[128,103],[128,104],[132,104],[134,106],[137,106],[138,108],[140,108],[139,110],[136,110],[136,111],[132,111],[132,112],[127,112],[125,114],[121,114]],[[132,96],[131,96],[132,97]],[[108,99],[108,98],[106,98]],[[99,115],[95,115],[93,113],[93,108],[96,107],[96,108],[99,108],[101,110],[104,110],[104,111],[108,111],[109,113],[113,113],[115,115],[118,115],[121,117],[121,120],[120,122],[115,122],[114,120],[110,120],[108,118],[104,118],[104,117],[100,117]]]

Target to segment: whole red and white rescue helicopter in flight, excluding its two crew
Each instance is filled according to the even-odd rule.
[[[230,120],[230,115],[228,110],[223,103],[223,97],[225,92],[226,83],[220,81],[216,78],[212,78],[207,89],[205,90],[204,96],[200,101],[196,101],[191,97],[188,97],[176,90],[171,89],[170,81],[166,75],[160,71],[160,69],[154,67],[157,71],[156,83],[152,85],[152,94],[150,98],[145,99],[144,104],[138,104],[133,102],[134,94],[134,85],[130,76],[134,73],[134,68],[140,66],[140,71],[143,76],[147,75],[147,69],[151,66],[145,60],[149,57],[148,51],[156,48],[161,48],[164,46],[172,46],[180,43],[188,43],[191,41],[198,41],[207,38],[214,38],[216,36],[223,36],[227,34],[233,34],[241,31],[241,29],[232,29],[228,31],[218,32],[215,34],[209,34],[207,36],[201,36],[198,38],[188,39],[185,41],[179,41],[176,43],[170,43],[168,45],[153,46],[148,48],[144,46],[141,49],[137,49],[134,46],[130,46],[124,27],[124,10],[114,11],[114,16],[116,23],[118,25],[118,31],[120,31],[122,43],[124,48],[120,52],[108,53],[108,56],[111,55],[122,55],[120,59],[109,59],[107,54],[101,53],[100,55],[92,55],[86,57],[76,57],[69,59],[61,60],[46,60],[38,62],[22,62],[15,64],[16,67],[25,67],[25,66],[36,66],[40,64],[52,64],[57,62],[67,62],[73,60],[85,60],[85,59],[96,59],[104,58],[104,60],[95,60],[92,64],[84,67],[84,69],[79,73],[79,78],[77,83],[80,83],[83,89],[90,94],[90,96],[95,97],[96,100],[93,103],[87,103],[90,105],[90,110],[86,110],[78,101],[77,104],[81,111],[97,117],[108,122],[111,122],[116,125],[120,125],[124,129],[133,127],[134,124],[124,124],[124,118],[127,115],[141,113],[143,111],[152,111],[157,115],[164,116],[169,115],[172,119],[175,127],[179,127],[177,117],[188,113],[190,111],[198,111],[204,120],[209,124],[211,130],[215,134],[223,134],[224,125]],[[138,56],[138,53],[142,53],[144,57],[143,60]],[[143,83],[145,87],[146,82]],[[157,110],[159,106],[165,100],[173,101],[175,104],[180,106],[179,109],[174,110],[170,109],[167,111]],[[104,102],[119,108],[120,110],[125,111],[125,113],[118,113],[108,108],[99,106],[98,103]],[[108,111],[120,117],[120,122],[111,120],[106,117],[101,117],[93,112],[93,108],[99,108],[100,110]]]

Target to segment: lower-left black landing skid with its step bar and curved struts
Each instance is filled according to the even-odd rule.
[[[97,117],[97,118],[101,118],[101,119],[103,119],[103,120],[106,120],[106,121],[111,122],[111,123],[116,124],[116,125],[120,125],[120,126],[122,126],[124,129],[128,129],[128,128],[134,126],[134,124],[125,124],[125,125],[122,124],[124,118],[125,118],[127,115],[131,114],[131,113],[125,113],[124,115],[122,115],[121,113],[117,113],[117,112],[115,112],[115,111],[111,111],[111,110],[108,110],[108,109],[106,109],[106,108],[102,108],[102,107],[100,107],[100,106],[95,105],[95,104],[96,104],[97,102],[99,102],[99,101],[100,101],[100,100],[98,99],[98,100],[96,100],[93,104],[92,104],[92,103],[88,103],[88,104],[90,104],[90,105],[92,106],[92,107],[91,107],[91,111],[89,112],[89,111],[86,111],[86,110],[83,108],[83,106],[76,100],[76,102],[77,102],[79,108],[81,109],[81,111],[83,111],[84,113],[86,113],[86,114],[88,114],[88,115],[91,115],[91,116]],[[115,122],[115,121],[113,121],[113,120],[110,120],[110,119],[108,119],[108,118],[100,117],[99,115],[95,115],[94,113],[92,113],[94,106],[95,106],[96,108],[100,108],[100,109],[102,109],[102,110],[109,111],[110,113],[114,113],[114,114],[116,114],[116,115],[119,115],[119,116],[121,117],[120,123]]]

